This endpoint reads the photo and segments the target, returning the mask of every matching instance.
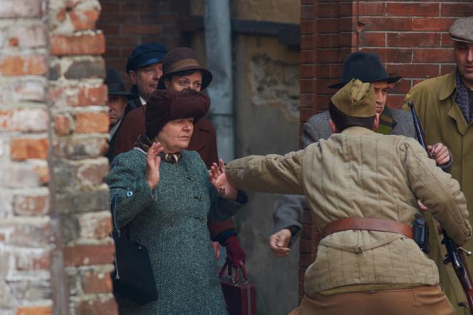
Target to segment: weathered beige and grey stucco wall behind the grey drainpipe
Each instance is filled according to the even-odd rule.
[[[202,3],[192,1],[193,14],[203,14]],[[231,3],[233,19],[299,23],[298,0]],[[204,32],[194,34],[192,47],[204,61]],[[234,34],[232,51],[236,157],[297,150],[299,49],[272,36]],[[279,195],[249,192],[248,205],[235,218],[259,315],[288,314],[298,304],[298,243],[286,258],[274,257],[268,247],[278,200]]]

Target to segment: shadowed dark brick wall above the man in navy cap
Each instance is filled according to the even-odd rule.
[[[180,21],[189,14],[189,0],[100,0],[98,27],[107,38],[107,67],[116,68],[127,81],[125,65],[135,46],[151,41],[168,48],[189,46]]]

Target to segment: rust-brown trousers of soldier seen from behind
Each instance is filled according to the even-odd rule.
[[[358,291],[333,295],[308,294],[289,315],[451,315],[452,305],[441,286]]]

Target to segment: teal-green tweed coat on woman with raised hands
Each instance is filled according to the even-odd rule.
[[[110,198],[118,195],[119,227],[150,253],[159,294],[142,306],[117,296],[120,314],[227,314],[207,218],[227,220],[241,204],[217,194],[194,151],[182,151],[177,164],[162,161],[153,190],[145,170],[146,155],[135,148],[113,160],[105,179]]]

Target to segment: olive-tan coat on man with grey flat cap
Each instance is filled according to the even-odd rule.
[[[417,115],[423,125],[427,144],[444,143],[453,155],[452,177],[458,180],[465,197],[467,198],[468,211],[473,212],[473,125],[468,125],[467,120],[455,103],[457,83],[455,82],[455,71],[445,76],[432,78],[414,86],[407,93],[405,100],[412,100]],[[472,216],[469,217],[472,222]],[[445,269],[442,260],[445,250],[432,246],[439,242],[436,234],[431,233],[432,259],[440,267],[440,282],[445,287],[445,293],[449,296],[452,304],[464,301],[464,294],[457,277],[454,275],[451,265]],[[473,242],[470,240],[465,244],[467,249],[473,251]],[[470,273],[473,272],[473,257],[467,257]],[[454,296],[456,296],[454,298]],[[465,313],[469,314],[469,313]]]

